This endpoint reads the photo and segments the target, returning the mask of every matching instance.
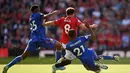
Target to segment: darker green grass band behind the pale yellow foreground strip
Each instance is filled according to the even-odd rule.
[[[0,64],[7,64],[15,57],[9,58],[0,58]],[[107,60],[102,61],[105,64],[130,64],[130,58],[121,58],[120,62]],[[53,64],[55,63],[55,57],[46,57],[46,58],[38,58],[38,57],[28,57],[24,61],[20,62],[19,64]],[[80,64],[78,59],[72,61],[72,64]]]

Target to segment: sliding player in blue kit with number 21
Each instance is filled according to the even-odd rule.
[[[85,24],[85,26],[89,28],[91,35],[85,35],[77,38],[75,30],[72,29],[68,32],[71,41],[65,46],[67,50],[66,55],[61,61],[52,66],[52,73],[56,73],[56,70],[59,67],[71,64],[70,54],[74,54],[87,70],[94,71],[96,73],[99,73],[101,69],[107,69],[108,67],[104,64],[95,64],[95,60],[100,60],[101,58],[109,60],[119,59],[117,56],[98,56],[94,50],[88,49],[86,42],[90,38],[95,39],[95,34],[88,24]]]

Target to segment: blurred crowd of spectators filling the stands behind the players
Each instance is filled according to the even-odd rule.
[[[32,4],[38,4],[44,14],[61,11],[48,20],[65,16],[65,9],[71,6],[81,21],[99,25],[94,29],[97,40],[88,44],[94,49],[130,49],[130,0],[0,0],[1,48],[25,49],[30,38],[29,8]],[[79,30],[79,35],[85,33]],[[61,29],[47,27],[47,36],[60,40]]]

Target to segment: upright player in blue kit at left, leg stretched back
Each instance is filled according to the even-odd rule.
[[[4,67],[3,73],[7,73],[10,67],[24,60],[28,55],[35,52],[39,47],[56,48],[57,50],[62,49],[62,45],[58,41],[46,37],[45,27],[43,26],[44,19],[51,15],[57,14],[58,11],[54,11],[44,15],[43,13],[40,12],[39,6],[37,5],[31,6],[30,10],[32,12],[29,20],[31,25],[31,38],[23,54],[17,56],[14,60],[8,63]]]

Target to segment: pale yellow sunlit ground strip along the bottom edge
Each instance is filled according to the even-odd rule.
[[[0,65],[0,73],[4,65]],[[108,70],[102,70],[101,73],[130,73],[129,65],[108,65]],[[9,69],[8,73],[51,73],[51,64],[26,64],[26,65],[15,65]],[[94,73],[85,70],[81,64],[71,64],[67,66],[64,71],[57,71],[57,73]]]

